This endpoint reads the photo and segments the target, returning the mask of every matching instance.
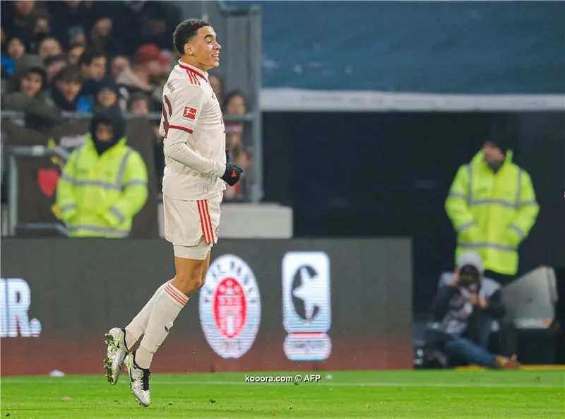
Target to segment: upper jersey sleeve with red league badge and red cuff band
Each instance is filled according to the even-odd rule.
[[[184,85],[171,92],[163,92],[160,134],[167,137],[169,130],[179,129],[192,134],[202,113],[204,90],[196,85]]]

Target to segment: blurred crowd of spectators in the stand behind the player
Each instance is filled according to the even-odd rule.
[[[180,16],[169,1],[2,1],[1,109],[25,112],[26,126],[37,131],[57,125],[64,112],[160,114],[162,85],[179,58],[172,33]],[[225,114],[246,113],[244,95],[227,92],[219,74],[210,73],[210,84]],[[160,182],[159,119],[153,131]],[[231,158],[245,169],[242,134],[242,123],[226,123]],[[225,198],[245,195],[239,182]]]

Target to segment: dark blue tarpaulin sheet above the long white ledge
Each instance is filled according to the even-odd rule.
[[[565,1],[226,4],[263,9],[267,88],[565,93]]]

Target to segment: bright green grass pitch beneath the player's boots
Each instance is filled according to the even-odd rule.
[[[250,384],[239,373],[155,374],[149,408],[133,399],[126,375],[116,386],[102,375],[3,377],[0,411],[14,419],[565,417],[564,371],[319,374],[320,382],[301,384]]]

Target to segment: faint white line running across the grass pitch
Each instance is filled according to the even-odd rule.
[[[49,380],[18,380],[18,379],[2,379],[1,384],[4,386],[9,386],[10,384],[95,384],[93,381],[86,380],[66,380],[61,379],[49,379]],[[100,380],[104,383],[104,380]],[[152,380],[153,385],[194,385],[194,386],[292,386],[293,383],[268,383],[268,382],[184,382],[184,381],[159,381]],[[471,388],[471,387],[481,387],[481,388],[507,388],[507,389],[535,389],[535,388],[545,388],[545,389],[564,389],[564,386],[558,384],[535,384],[535,383],[453,383],[453,384],[441,384],[441,383],[429,383],[429,384],[417,384],[417,383],[391,383],[391,382],[368,382],[368,383],[340,383],[340,382],[302,382],[300,385],[304,386],[328,386],[328,387],[438,387],[438,388],[450,388],[450,387],[460,387],[460,388]]]

